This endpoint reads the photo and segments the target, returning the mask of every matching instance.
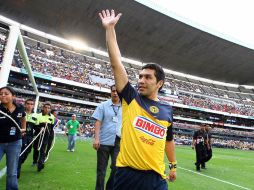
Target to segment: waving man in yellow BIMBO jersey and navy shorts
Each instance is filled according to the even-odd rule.
[[[138,90],[132,87],[116,40],[115,25],[121,14],[103,10],[99,16],[106,30],[110,63],[122,100],[122,138],[114,190],[166,190],[166,179],[176,179],[176,156],[172,107],[158,99],[164,71],[157,64],[147,64],[139,74]],[[170,163],[167,175],[164,152]]]

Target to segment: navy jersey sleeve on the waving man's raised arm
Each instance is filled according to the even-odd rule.
[[[128,82],[123,90],[118,93],[120,99],[124,99],[127,104],[130,104],[131,101],[138,95],[138,91],[131,85],[130,82]]]

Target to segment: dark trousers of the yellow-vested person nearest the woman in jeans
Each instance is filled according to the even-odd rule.
[[[20,153],[22,153],[32,141],[33,141],[33,136],[31,136],[31,135],[23,136],[23,138],[22,138],[22,148],[21,148]],[[28,157],[28,154],[31,152],[31,150],[32,150],[32,145],[30,145],[26,149],[26,151],[19,157],[19,164],[18,164],[18,170],[17,170],[18,178],[20,176],[21,165],[26,161],[26,159]]]

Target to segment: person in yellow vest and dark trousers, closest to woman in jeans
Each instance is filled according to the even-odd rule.
[[[33,113],[33,109],[34,109],[34,100],[27,99],[25,101],[26,134],[23,135],[22,137],[22,148],[21,155],[19,157],[18,174],[17,174],[18,178],[20,177],[21,165],[25,162],[29,153],[32,150],[32,145],[30,145],[30,143],[33,141],[33,130],[37,122],[36,113]]]

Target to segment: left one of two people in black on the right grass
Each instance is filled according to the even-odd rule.
[[[200,166],[205,169],[205,125],[201,125],[198,131],[194,132],[192,149],[196,150],[196,170],[200,172]]]

